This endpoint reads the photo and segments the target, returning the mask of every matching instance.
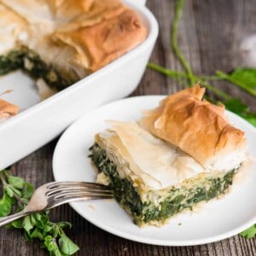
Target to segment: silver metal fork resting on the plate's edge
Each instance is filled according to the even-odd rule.
[[[113,198],[113,192],[99,183],[52,182],[36,189],[27,206],[21,211],[0,218],[0,227],[35,212],[43,212],[71,201]]]

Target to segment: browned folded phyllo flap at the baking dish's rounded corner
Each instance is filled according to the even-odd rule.
[[[94,72],[143,42],[146,35],[139,16],[125,9],[94,26],[55,32],[54,39],[76,49],[76,63]]]

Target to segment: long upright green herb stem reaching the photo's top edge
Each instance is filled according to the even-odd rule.
[[[182,51],[177,46],[177,26],[178,26],[179,20],[182,17],[182,14],[183,14],[183,5],[184,5],[184,0],[177,0],[175,15],[172,20],[171,42],[172,42],[173,52],[175,55],[177,55],[178,60],[181,62],[186,73],[188,74],[190,86],[193,86],[195,84],[195,80],[194,80],[194,76],[193,76],[191,67],[189,66],[189,62],[184,57]]]

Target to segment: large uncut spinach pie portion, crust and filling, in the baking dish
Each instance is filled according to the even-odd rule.
[[[119,0],[0,0],[0,75],[21,68],[61,90],[146,36]]]

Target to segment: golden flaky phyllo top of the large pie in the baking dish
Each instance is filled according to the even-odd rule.
[[[26,40],[22,44],[49,65],[78,69],[76,79],[124,55],[147,36],[139,15],[119,0],[1,0],[1,3],[26,22]],[[0,26],[1,19],[5,19],[4,15],[0,17]],[[13,25],[20,26],[17,22]],[[13,37],[15,41],[18,36],[13,34]]]

